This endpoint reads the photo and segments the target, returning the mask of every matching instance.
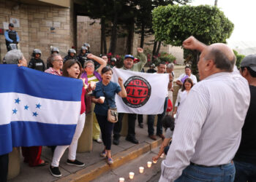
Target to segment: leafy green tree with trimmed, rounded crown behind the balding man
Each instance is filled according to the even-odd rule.
[[[234,25],[218,7],[201,5],[197,7],[167,5],[153,11],[153,29],[158,41],[181,46],[189,36],[204,44],[225,43],[233,31]],[[184,58],[189,58],[196,68],[199,58],[197,51],[184,51]],[[193,70],[197,74],[197,70]]]

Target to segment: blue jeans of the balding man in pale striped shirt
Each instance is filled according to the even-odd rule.
[[[189,165],[175,182],[218,181],[230,182],[235,179],[235,165],[233,163],[219,167],[200,167]]]

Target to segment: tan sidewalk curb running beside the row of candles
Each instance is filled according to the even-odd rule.
[[[131,148],[118,152],[113,155],[114,163],[113,165],[108,165],[105,160],[97,162],[94,165],[90,165],[82,170],[78,170],[76,173],[72,173],[70,175],[66,175],[63,178],[60,178],[57,181],[92,181],[95,178],[99,177],[103,173],[106,173],[110,170],[116,169],[117,167],[124,165],[125,163],[140,157],[140,155],[151,151],[151,149],[156,148],[162,143],[162,139],[158,139],[157,141],[152,141],[151,143],[143,142],[136,146],[132,146]]]

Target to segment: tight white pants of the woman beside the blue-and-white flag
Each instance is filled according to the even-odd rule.
[[[51,165],[53,167],[59,167],[59,161],[64,154],[64,151],[66,151],[67,148],[69,148],[69,160],[75,160],[75,155],[78,148],[78,139],[80,138],[80,135],[83,132],[83,127],[86,122],[86,114],[80,114],[77,127],[75,128],[75,134],[73,136],[72,142],[70,146],[57,146],[54,154],[53,154],[53,162],[51,162]]]

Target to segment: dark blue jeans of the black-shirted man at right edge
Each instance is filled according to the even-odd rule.
[[[234,161],[236,167],[236,178],[237,182],[251,182],[256,181],[256,165],[247,163]]]

